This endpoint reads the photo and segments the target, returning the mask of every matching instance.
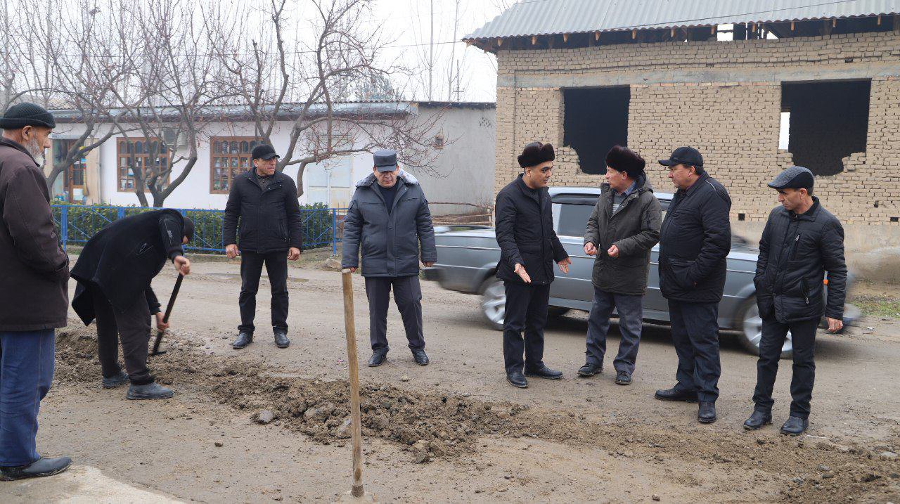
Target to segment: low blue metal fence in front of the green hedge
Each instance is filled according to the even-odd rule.
[[[113,220],[148,210],[144,207],[121,207],[103,205],[52,205],[53,220],[59,227],[59,238],[63,248],[68,244],[86,243],[94,233],[103,229]],[[193,220],[193,241],[186,250],[197,252],[225,252],[222,243],[222,224],[225,211],[201,209],[175,209]],[[338,254],[341,241],[339,225],[347,215],[346,208],[302,208],[303,248],[331,246],[332,255]]]

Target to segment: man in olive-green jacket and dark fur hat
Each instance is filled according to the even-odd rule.
[[[607,154],[607,181],[584,233],[584,253],[596,256],[591,282],[587,361],[578,374],[593,376],[603,370],[609,318],[619,318],[616,383],[627,385],[635,373],[637,347],[644,324],[644,294],[650,271],[650,251],[660,241],[660,202],[644,174],[644,158],[616,146]]]

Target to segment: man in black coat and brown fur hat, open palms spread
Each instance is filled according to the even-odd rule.
[[[522,389],[528,386],[526,376],[550,380],[563,377],[544,364],[544,328],[554,262],[564,274],[569,273],[572,264],[556,237],[547,192],[554,158],[554,146],[529,143],[518,156],[518,165],[524,172],[497,193],[494,206],[500,245],[497,277],[506,289],[503,360],[507,381]]]

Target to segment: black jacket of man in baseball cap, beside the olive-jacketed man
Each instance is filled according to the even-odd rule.
[[[720,302],[731,251],[731,196],[704,172],[672,198],[662,221],[660,289],[671,301]]]

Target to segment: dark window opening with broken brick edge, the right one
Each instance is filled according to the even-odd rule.
[[[788,112],[788,151],[815,175],[843,171],[843,157],[866,151],[871,81],[781,85]]]

